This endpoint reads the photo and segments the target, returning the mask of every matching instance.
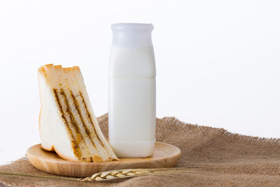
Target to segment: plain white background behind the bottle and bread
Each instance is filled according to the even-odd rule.
[[[97,3],[98,2],[98,3]],[[0,1],[0,162],[40,142],[37,69],[80,66],[108,111],[111,23],[153,23],[157,116],[280,137],[280,1]]]

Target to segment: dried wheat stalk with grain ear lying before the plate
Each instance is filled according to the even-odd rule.
[[[15,174],[0,172],[3,175],[13,175],[13,176],[29,176],[36,178],[47,178],[47,179],[68,179],[73,181],[109,181],[113,179],[125,179],[134,176],[143,176],[148,174],[174,174],[174,173],[191,173],[194,167],[171,167],[171,168],[155,168],[155,169],[118,169],[111,170],[107,172],[99,172],[93,174],[90,177],[83,179],[64,177],[64,176],[40,176],[31,174]]]

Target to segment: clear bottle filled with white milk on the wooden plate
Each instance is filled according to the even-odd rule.
[[[145,158],[155,146],[153,25],[113,24],[109,62],[109,141],[119,158]]]

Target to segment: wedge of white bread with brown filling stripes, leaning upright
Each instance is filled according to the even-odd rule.
[[[41,147],[74,161],[118,160],[94,116],[79,67],[38,69]]]

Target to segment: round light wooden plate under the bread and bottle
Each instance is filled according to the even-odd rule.
[[[27,150],[31,165],[44,172],[64,176],[87,177],[97,172],[113,169],[174,167],[181,158],[176,146],[155,142],[153,156],[149,158],[120,158],[113,162],[73,162],[63,160],[55,152],[44,151],[41,144]]]

